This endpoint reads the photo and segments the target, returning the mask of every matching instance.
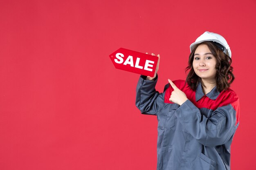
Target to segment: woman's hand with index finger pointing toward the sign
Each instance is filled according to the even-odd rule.
[[[181,91],[179,88],[177,88],[177,86],[170,79],[168,79],[168,82],[173,87],[173,91],[169,98],[170,102],[176,103],[178,105],[182,105],[188,99],[186,98],[186,94],[183,91]]]

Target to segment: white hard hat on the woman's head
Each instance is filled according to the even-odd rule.
[[[227,41],[224,37],[222,37],[220,34],[217,33],[211,33],[209,31],[204,32],[200,37],[198,37],[194,43],[190,45],[190,51],[192,51],[193,47],[196,44],[199,44],[204,41],[212,41],[217,42],[215,43],[225,54],[227,54],[231,58],[231,51],[230,47],[227,44]],[[220,46],[221,45],[221,46]]]

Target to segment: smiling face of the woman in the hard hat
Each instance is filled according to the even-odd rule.
[[[208,82],[215,82],[216,58],[213,56],[208,46],[201,44],[194,53],[193,69],[198,77]]]

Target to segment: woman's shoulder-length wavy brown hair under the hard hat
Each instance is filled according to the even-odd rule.
[[[216,86],[219,92],[223,90],[227,90],[230,87],[230,84],[234,81],[235,76],[232,73],[233,67],[231,66],[232,60],[231,58],[222,52],[213,42],[206,41],[197,44],[192,50],[189,55],[189,66],[186,67],[186,72],[189,71],[186,77],[186,83],[190,86],[190,88],[195,91],[199,82],[202,83],[204,86],[202,79],[195,74],[193,69],[193,60],[194,60],[194,53],[195,49],[200,46],[201,44],[205,44],[208,46],[209,50],[216,57]]]

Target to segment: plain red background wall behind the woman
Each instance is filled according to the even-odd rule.
[[[231,46],[240,97],[232,170],[254,170],[255,0],[1,0],[0,169],[155,170],[157,119],[135,106],[139,75],[117,70],[120,47],[159,53],[185,79],[204,31]]]

